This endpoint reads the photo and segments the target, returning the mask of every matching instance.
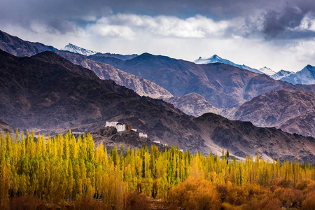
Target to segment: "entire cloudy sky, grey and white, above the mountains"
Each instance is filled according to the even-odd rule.
[[[0,0],[0,29],[55,48],[217,54],[274,71],[315,65],[313,0]]]

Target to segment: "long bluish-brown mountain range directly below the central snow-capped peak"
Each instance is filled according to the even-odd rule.
[[[218,108],[236,107],[272,90],[315,92],[315,85],[293,85],[228,64],[195,64],[148,53],[127,61],[93,55],[87,58],[151,80],[175,97],[196,92]]]

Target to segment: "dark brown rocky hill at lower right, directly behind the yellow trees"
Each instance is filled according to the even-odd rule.
[[[214,143],[229,151],[236,151],[239,157],[244,157],[249,151],[258,151],[265,160],[271,157],[280,157],[281,161],[286,158],[293,160],[298,156],[306,160],[302,158],[304,155],[315,158],[313,137],[288,134],[274,127],[253,127],[250,122],[230,121],[214,113],[206,113],[195,118],[195,121],[203,131],[202,138],[211,138],[206,144]],[[305,138],[307,141],[304,141]]]

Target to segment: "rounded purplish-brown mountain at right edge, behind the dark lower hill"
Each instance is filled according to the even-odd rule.
[[[315,94],[296,90],[268,92],[237,107],[228,118],[315,137]]]

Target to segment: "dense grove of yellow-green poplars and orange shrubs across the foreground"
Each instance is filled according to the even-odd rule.
[[[304,196],[300,207],[308,197],[315,200],[314,166],[297,160],[270,162],[257,155],[237,161],[224,150],[218,157],[183,153],[174,146],[165,152],[143,146],[125,153],[123,146],[119,151],[115,146],[108,154],[103,144],[94,147],[90,134],[76,139],[71,131],[46,138],[35,138],[34,132],[19,135],[17,130],[15,138],[1,132],[0,140],[1,207],[30,196],[52,203],[90,198],[102,202],[102,208],[124,209],[126,197],[135,196],[128,194],[132,192],[167,200],[174,209],[246,207],[241,204],[256,194],[260,200],[272,196],[264,207],[278,207],[288,202],[281,196],[292,190]]]

